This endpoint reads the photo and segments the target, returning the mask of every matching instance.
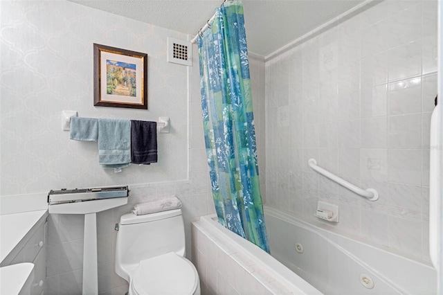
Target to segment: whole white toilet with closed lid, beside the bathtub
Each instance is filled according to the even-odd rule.
[[[129,283],[129,295],[200,295],[199,274],[185,250],[181,209],[120,217],[116,273]]]

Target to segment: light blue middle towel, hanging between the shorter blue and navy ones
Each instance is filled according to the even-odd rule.
[[[98,119],[98,163],[103,168],[123,168],[131,163],[131,122]]]

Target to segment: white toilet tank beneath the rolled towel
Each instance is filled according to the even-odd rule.
[[[124,268],[161,254],[185,256],[185,229],[181,209],[120,217],[116,264]]]

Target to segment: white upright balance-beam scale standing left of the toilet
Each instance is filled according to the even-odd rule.
[[[127,186],[51,190],[48,195],[50,214],[84,214],[83,290],[98,294],[97,216],[96,213],[127,204]]]

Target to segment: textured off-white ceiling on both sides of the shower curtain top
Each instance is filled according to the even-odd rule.
[[[221,0],[69,0],[195,35]],[[266,56],[363,0],[244,0],[248,49]]]

